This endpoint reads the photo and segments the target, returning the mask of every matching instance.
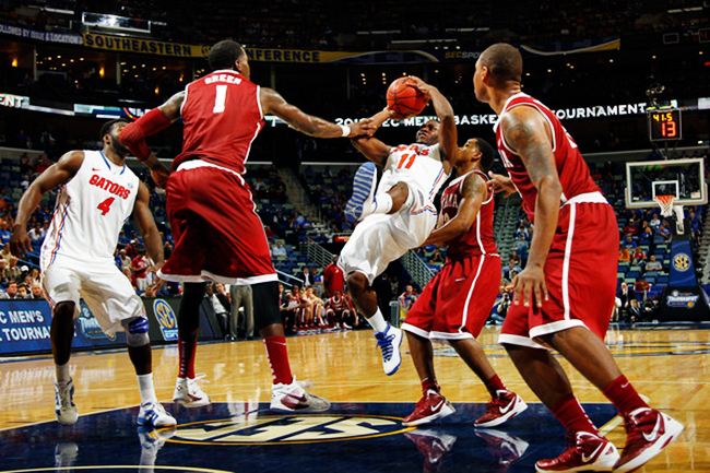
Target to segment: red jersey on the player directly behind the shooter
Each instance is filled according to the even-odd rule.
[[[488,177],[480,170],[472,170],[488,181]],[[466,177],[471,175],[466,173],[461,177],[454,179],[449,187],[447,187],[441,196],[441,214],[443,214],[443,223],[453,218],[459,212],[459,202],[463,200],[463,182]],[[496,243],[493,239],[493,211],[494,211],[493,193],[488,196],[488,200],[483,202],[476,220],[471,225],[471,229],[463,235],[460,235],[448,241],[449,249],[447,257],[450,260],[460,260],[471,256],[497,253]]]

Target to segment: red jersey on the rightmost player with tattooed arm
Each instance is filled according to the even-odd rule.
[[[535,189],[535,186],[531,182],[522,159],[510,149],[510,146],[508,146],[508,143],[506,143],[506,140],[502,137],[502,131],[500,130],[500,120],[508,110],[519,105],[536,108],[549,125],[553,134],[553,152],[555,153],[557,174],[559,175],[559,182],[563,186],[560,205],[575,196],[588,192],[601,192],[600,188],[594,184],[594,180],[590,175],[589,166],[579,153],[577,143],[575,143],[572,137],[569,135],[567,130],[565,130],[565,127],[563,127],[563,123],[560,123],[555,114],[530,95],[523,93],[516,94],[510,97],[504,106],[500,119],[495,126],[496,142],[502,163],[508,169],[512,182],[522,197],[523,206],[530,221],[533,221],[535,214],[537,189]]]

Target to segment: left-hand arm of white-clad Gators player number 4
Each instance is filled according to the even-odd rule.
[[[32,213],[42,202],[42,197],[51,189],[69,182],[76,175],[83,162],[83,151],[70,151],[61,156],[57,164],[49,166],[47,170],[42,173],[22,194],[17,205],[17,217],[10,238],[12,255],[22,258],[27,251],[32,251],[32,244],[27,235],[27,222]]]

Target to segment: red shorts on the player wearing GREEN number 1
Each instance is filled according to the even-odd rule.
[[[166,192],[175,249],[161,277],[224,284],[276,281],[267,235],[241,176],[190,161],[170,174]]]

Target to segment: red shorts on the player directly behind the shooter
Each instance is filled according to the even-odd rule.
[[[447,261],[410,309],[402,329],[431,341],[475,339],[500,289],[500,257]]]

